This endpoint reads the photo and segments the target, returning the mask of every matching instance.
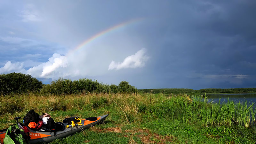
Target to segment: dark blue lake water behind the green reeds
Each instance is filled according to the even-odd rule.
[[[229,99],[229,101],[233,100],[234,103],[238,103],[239,100],[240,100],[240,102],[244,102],[246,100],[247,104],[249,104],[249,102],[251,102],[251,104],[255,102],[254,105],[256,105],[256,93],[208,94],[206,96],[207,96],[209,102],[211,100],[213,102],[219,102],[219,99],[220,99],[220,103],[222,103],[222,102],[227,102]]]

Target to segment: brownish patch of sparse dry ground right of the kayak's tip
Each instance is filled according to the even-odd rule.
[[[175,140],[172,136],[163,136],[157,133],[151,133],[148,129],[134,129],[134,130],[125,130],[122,131],[120,127],[108,127],[105,129],[100,129],[96,127],[92,127],[90,130],[95,132],[117,132],[124,134],[124,137],[130,138],[129,143],[136,143],[132,138],[134,136],[139,137],[142,143],[150,144],[150,143],[158,143],[164,144],[166,142],[173,142]]]

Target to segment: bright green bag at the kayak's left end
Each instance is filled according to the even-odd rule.
[[[15,129],[19,129],[18,124],[15,124]],[[12,130],[14,130],[14,127],[9,126],[8,130],[5,133],[5,137],[4,137],[4,144],[15,144],[14,141],[11,138],[11,132]],[[24,132],[23,130],[20,129],[20,132]],[[18,137],[22,138],[19,139]],[[15,134],[15,139],[20,142],[20,144],[27,144],[26,140],[22,137],[22,134]]]

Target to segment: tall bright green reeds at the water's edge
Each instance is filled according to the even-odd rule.
[[[229,99],[222,104],[220,99],[218,103],[207,103],[207,98],[202,98],[198,95],[193,97],[193,112],[198,115],[198,120],[203,126],[240,124],[252,127],[252,122],[255,124],[254,103],[248,105],[247,101],[244,101],[234,104],[234,101]]]

